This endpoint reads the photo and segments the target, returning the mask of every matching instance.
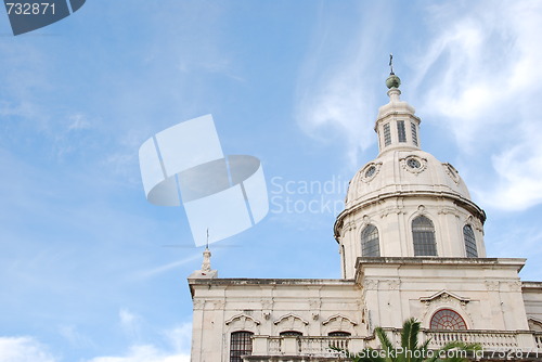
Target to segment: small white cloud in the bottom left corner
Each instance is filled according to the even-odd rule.
[[[0,337],[2,362],[56,362],[48,348],[31,337]]]

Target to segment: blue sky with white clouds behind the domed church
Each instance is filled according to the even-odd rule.
[[[211,249],[219,275],[339,277],[333,208],[285,199],[339,203],[376,157],[390,52],[422,147],[488,214],[488,256],[542,280],[541,23],[539,1],[89,0],[13,37],[1,14],[0,361],[190,360],[202,250],[182,208],[145,201],[138,148],[205,114],[278,197]]]

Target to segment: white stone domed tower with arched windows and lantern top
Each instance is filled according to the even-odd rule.
[[[334,225],[343,276],[354,276],[358,258],[483,258],[486,214],[457,170],[421,148],[422,120],[399,88],[387,93],[374,128],[378,156],[350,181]]]

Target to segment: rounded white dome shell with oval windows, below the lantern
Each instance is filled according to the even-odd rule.
[[[449,195],[470,201],[455,168],[421,150],[389,150],[363,166],[350,181],[346,209],[387,195]]]

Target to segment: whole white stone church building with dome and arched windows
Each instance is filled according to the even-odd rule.
[[[341,279],[220,279],[206,249],[189,276],[193,362],[336,361],[330,347],[378,348],[376,326],[399,341],[410,318],[433,349],[462,340],[542,357],[542,282],[519,279],[526,259],[486,256],[486,214],[452,165],[422,151],[399,77],[386,86],[378,156],[333,227]]]

